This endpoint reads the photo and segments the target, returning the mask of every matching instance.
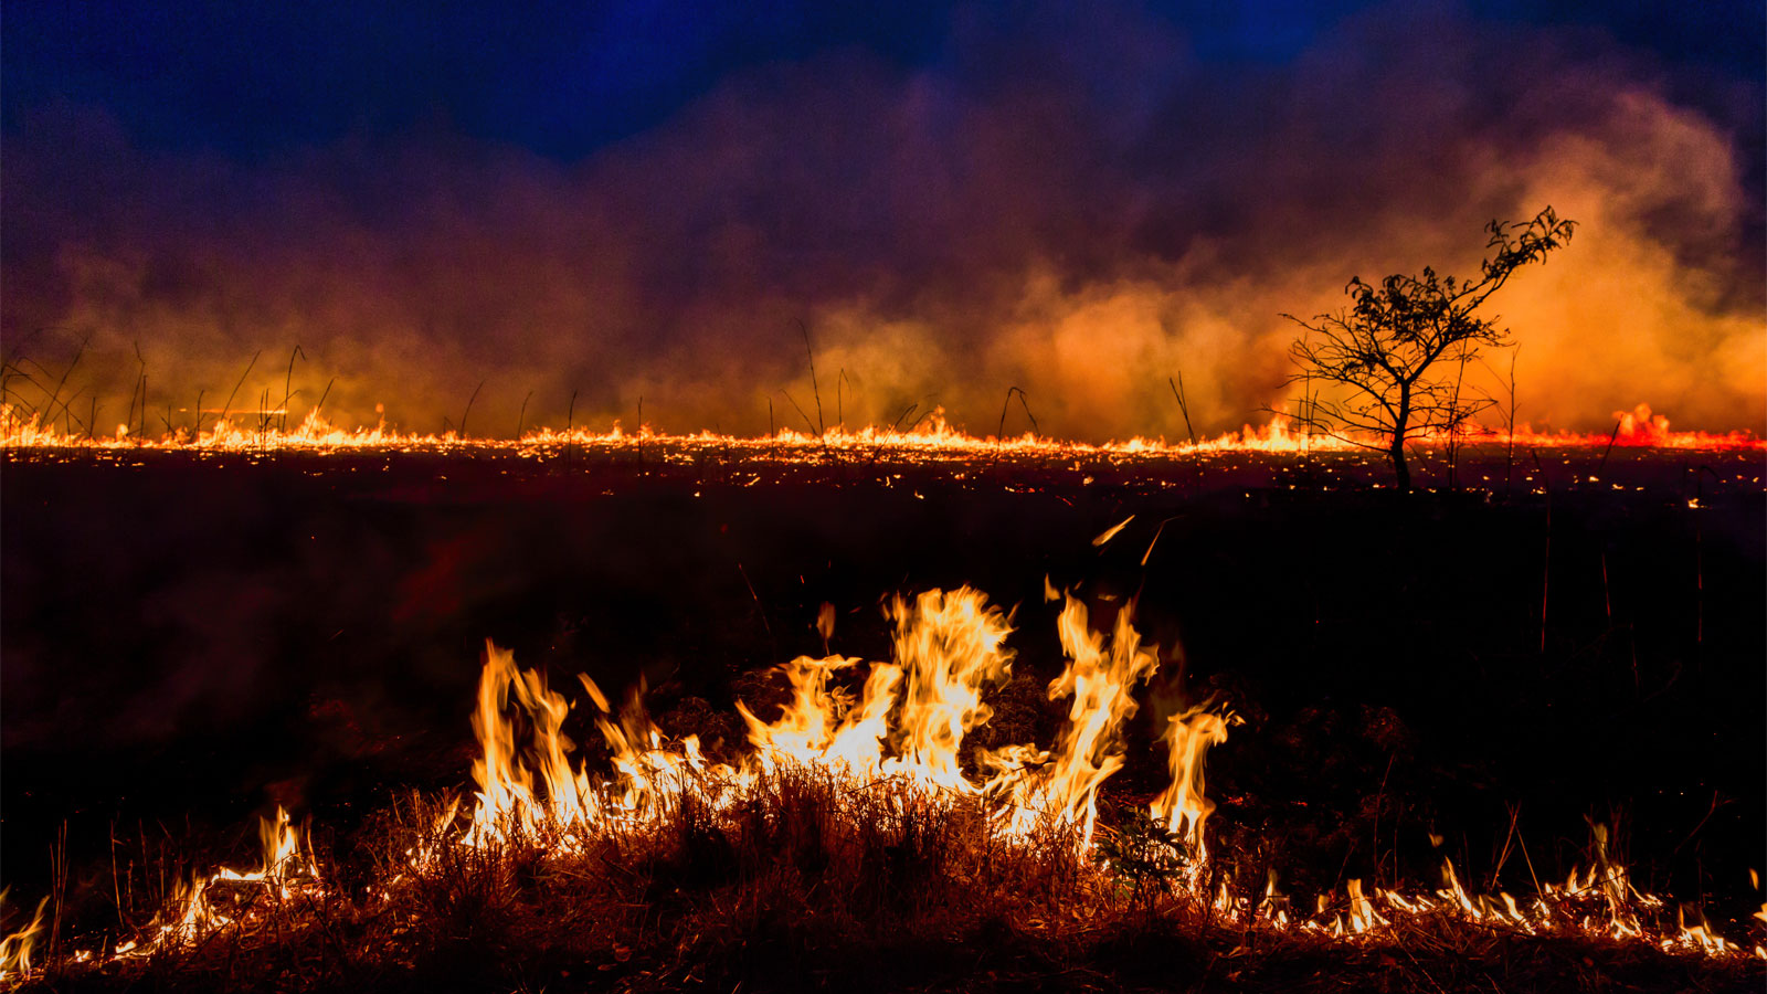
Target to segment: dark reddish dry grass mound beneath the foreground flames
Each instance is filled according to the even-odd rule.
[[[322,865],[323,890],[240,888],[223,895],[235,927],[141,960],[64,959],[27,987],[1507,992],[1763,978],[1758,960],[1435,918],[1384,941],[1246,929],[1145,870],[1076,860],[1067,828],[1005,842],[977,798],[809,769],[763,776],[719,812],[677,798],[590,840],[542,830],[466,847],[458,826],[436,828],[447,810],[392,805]]]

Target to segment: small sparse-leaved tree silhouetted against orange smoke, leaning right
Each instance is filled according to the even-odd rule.
[[[1509,331],[1497,318],[1477,317],[1484,301],[1509,276],[1571,241],[1576,221],[1551,207],[1532,221],[1491,221],[1479,279],[1394,274],[1378,287],[1352,278],[1350,306],[1311,322],[1283,315],[1306,333],[1288,348],[1301,368],[1290,384],[1308,384],[1299,421],[1357,446],[1387,453],[1399,492],[1412,488],[1405,446],[1460,432],[1490,407],[1491,398],[1461,386],[1467,363],[1481,348],[1507,347]],[[1313,387],[1323,384],[1325,391]],[[1336,386],[1336,389],[1334,389]]]

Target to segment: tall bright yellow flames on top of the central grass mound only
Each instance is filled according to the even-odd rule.
[[[608,831],[622,819],[650,817],[682,794],[719,810],[781,768],[808,768],[850,785],[884,778],[929,796],[988,798],[998,805],[993,822],[1004,837],[1025,837],[1053,821],[1078,831],[1083,853],[1097,819],[1097,789],[1122,766],[1124,723],[1136,711],[1133,688],[1157,665],[1140,646],[1131,610],[1119,612],[1106,651],[1104,637],[1087,626],[1085,607],[1067,600],[1058,633],[1069,663],[1050,684],[1051,699],[1073,697],[1067,729],[1053,750],[1007,745],[979,753],[975,769],[965,768],[963,741],[993,715],[984,692],[1011,676],[1009,617],[970,587],[896,598],[891,617],[894,660],[869,665],[857,700],[832,681],[857,670],[861,660],[799,656],[779,669],[792,695],[777,718],[767,722],[739,702],[755,752],[735,768],[709,764],[691,739],[666,748],[636,702],[615,723],[606,697],[585,679],[603,713],[595,725],[613,755],[608,784],[567,759],[573,746],[560,727],[569,704],[539,674],[518,670],[509,653],[488,646],[474,713],[482,746],[474,762],[477,807],[461,842],[482,845],[558,830],[569,842],[573,831]],[[537,769],[516,746],[514,720],[505,713],[511,688],[534,725]],[[1225,739],[1225,723],[1221,729],[1214,741]],[[1186,755],[1200,761],[1202,748]],[[1198,842],[1200,828],[1198,819]]]

